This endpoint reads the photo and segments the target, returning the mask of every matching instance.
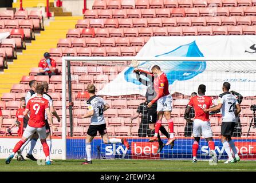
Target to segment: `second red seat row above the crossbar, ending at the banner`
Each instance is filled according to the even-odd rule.
[[[150,37],[96,37],[59,39],[57,47],[144,46]],[[62,49],[65,52],[65,49]]]

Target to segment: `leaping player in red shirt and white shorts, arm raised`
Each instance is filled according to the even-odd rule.
[[[148,108],[151,108],[152,104],[157,102],[157,121],[155,125],[155,135],[149,139],[149,142],[157,141],[159,129],[162,126],[163,116],[166,117],[168,122],[168,126],[170,129],[170,138],[166,145],[170,145],[175,141],[174,137],[174,121],[171,119],[171,111],[172,111],[172,96],[169,92],[169,83],[166,74],[160,69],[157,65],[152,65],[149,69],[152,73],[149,73],[144,70],[139,70],[141,72],[151,74],[154,77],[154,90],[156,92],[156,97],[152,99],[151,102],[148,103]],[[149,127],[150,128],[150,127]]]

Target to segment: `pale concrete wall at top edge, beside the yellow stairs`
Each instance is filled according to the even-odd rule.
[[[92,9],[94,0],[87,0],[87,9]],[[84,9],[84,0],[62,0],[64,11],[72,12],[73,16],[81,16]]]

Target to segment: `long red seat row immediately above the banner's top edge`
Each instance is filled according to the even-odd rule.
[[[204,23],[206,23],[202,19],[202,21],[194,23],[194,25],[198,25],[198,26],[175,27],[173,23],[172,25],[170,24],[170,26],[168,27],[105,28],[105,29],[101,29],[101,34],[99,36],[108,38],[108,37],[152,37],[152,36],[190,35],[190,34],[186,34],[187,31],[189,32],[190,30],[198,31],[198,33],[196,33],[195,35],[219,35],[219,30],[225,30],[225,33],[221,33],[223,35],[228,35],[228,34],[231,35],[233,34],[234,29],[239,30],[239,35],[255,34],[255,25],[231,26],[232,24],[234,25],[234,22],[232,21],[232,19],[230,20],[227,19],[226,22],[220,22],[220,19],[216,18],[216,19],[211,19],[211,21],[212,22],[208,22],[208,23],[211,24],[212,26],[201,26]],[[183,23],[184,25],[186,25],[188,22],[183,22]],[[219,26],[218,24],[220,23],[229,24],[229,25]],[[205,30],[207,30],[208,32],[207,34],[204,33]],[[69,30],[66,36],[79,38],[80,37],[79,31],[80,31],[79,29]],[[93,36],[93,34],[90,34],[89,36]],[[81,34],[81,37],[88,37],[88,35]],[[93,39],[90,39],[90,40],[93,40]],[[107,41],[111,39],[105,39],[105,40]],[[139,40],[139,39],[134,39],[134,40]],[[147,40],[145,40],[144,42],[147,42]],[[79,46],[80,45],[83,46],[82,43],[80,43]]]

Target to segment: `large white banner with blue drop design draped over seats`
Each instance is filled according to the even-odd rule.
[[[186,37],[151,37],[136,55],[137,57],[207,57],[256,60],[256,35],[218,35]],[[147,70],[159,65],[167,74],[171,93],[190,95],[197,92],[198,85],[206,85],[206,94],[218,96],[222,84],[231,83],[231,90],[243,96],[256,96],[256,62],[254,61],[144,61],[139,68]],[[146,87],[136,79],[132,67],[127,67],[99,95],[125,96],[145,95]]]

